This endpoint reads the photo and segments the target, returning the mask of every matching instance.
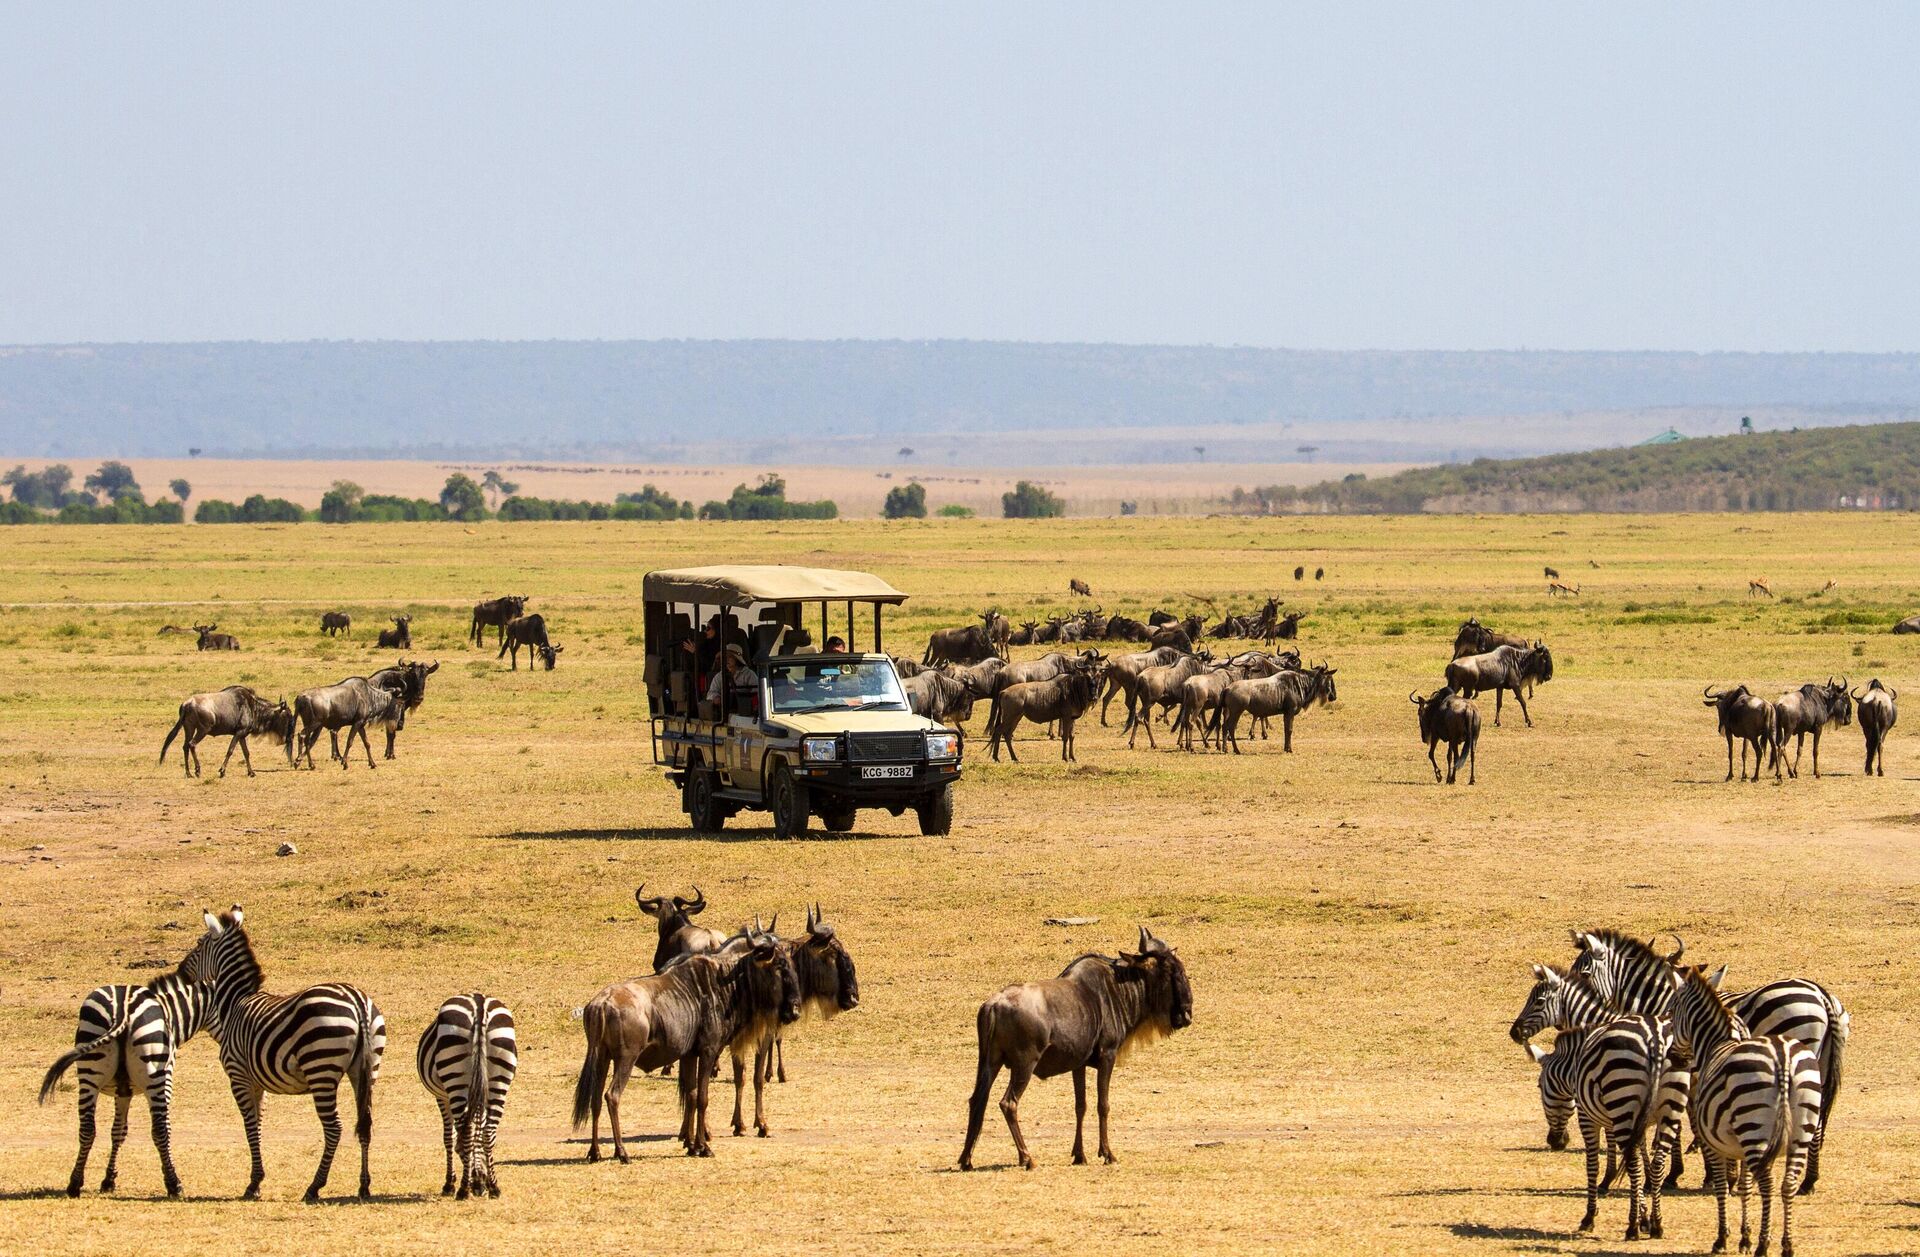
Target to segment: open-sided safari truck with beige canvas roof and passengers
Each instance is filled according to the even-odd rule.
[[[649,572],[643,597],[653,762],[695,829],[743,808],[783,839],[810,818],[843,833],[860,808],[952,827],[960,735],[912,712],[881,651],[881,608],[904,593],[866,572],[726,566]],[[833,635],[845,651],[826,651]]]

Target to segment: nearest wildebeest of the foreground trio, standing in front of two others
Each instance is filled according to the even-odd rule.
[[[574,1127],[591,1115],[588,1161],[599,1161],[599,1113],[607,1102],[612,1155],[628,1159],[620,1132],[620,1094],[641,1073],[680,1065],[680,1142],[689,1157],[710,1157],[707,1096],[720,1054],[751,1050],[772,1023],[801,1015],[801,979],[772,935],[755,933],[743,956],[685,956],[649,977],[614,983],[593,996],[580,1021],[586,1063],[574,1086]]]

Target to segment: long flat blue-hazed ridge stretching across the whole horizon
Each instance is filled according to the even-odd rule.
[[[941,438],[943,457],[952,449],[966,461],[968,438],[996,432],[1096,439],[1198,424],[1265,424],[1277,434],[1298,424],[1296,439],[1317,441],[1323,457],[1342,457],[1338,441],[1352,441],[1346,457],[1365,445],[1377,461],[1409,461],[1490,447],[1427,432],[1438,426],[1430,420],[1659,407],[1736,407],[1736,416],[1741,407],[1786,407],[1791,422],[1905,416],[1920,413],[1920,355],[941,340],[0,347],[0,453],[13,457],[204,449],[674,459],[710,457],[716,443],[804,453],[797,441],[876,436]],[[1638,439],[1665,420],[1599,426],[1503,449]],[[1521,438],[1496,430],[1492,439]]]

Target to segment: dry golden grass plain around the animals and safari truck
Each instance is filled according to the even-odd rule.
[[[1814,781],[1722,783],[1707,681],[1757,689],[1849,674],[1920,685],[1910,516],[1574,516],[937,524],[445,524],[363,528],[12,528],[0,534],[0,1199],[13,1251],[215,1244],[248,1251],[643,1247],[708,1251],[1620,1251],[1624,1203],[1578,1238],[1576,1153],[1542,1140],[1532,1069],[1505,1038],[1526,963],[1572,925],[1678,931],[1732,984],[1807,975],[1853,1009],[1847,1084],[1807,1253],[1920,1247],[1920,758],[1897,729],[1884,779],[1859,729]],[[912,818],[772,842],[682,825],[649,762],[641,574],[781,560],[874,570],[916,599],[895,649],[985,605],[1068,608],[1069,576],[1108,612],[1308,608],[1302,651],[1338,664],[1340,702],[1296,754],[1188,756],[1083,727],[1079,764],[970,766],[950,837]],[[1546,597],[1542,564],[1584,587]],[[1309,578],[1294,583],[1292,568]],[[1596,566],[1597,564],[1597,566]],[[1311,570],[1325,566],[1315,583]],[[1784,595],[1745,599],[1749,576]],[[1828,578],[1837,587],[1809,597]],[[465,645],[467,606],[528,593],[568,649],[511,674]],[[324,608],[355,616],[324,639]],[[292,693],[392,662],[372,631],[415,616],[442,660],[401,758],[367,771],[184,781],[156,764],[175,704],[244,681]],[[1407,691],[1438,683],[1467,614],[1546,637],[1559,676],[1534,727],[1488,729],[1480,783],[1432,783]],[[163,624],[217,620],[246,647],[198,654]],[[1920,689],[1914,691],[1920,695]],[[1511,714],[1511,706],[1509,706]],[[1490,710],[1488,710],[1490,716]],[[1907,723],[1916,718],[1908,716]],[[975,722],[975,729],[977,729]],[[1165,741],[1164,741],[1165,747]],[[282,841],[300,854],[275,858]],[[774,1138],[678,1155],[672,1084],[630,1088],[632,1165],[586,1165],[566,1105],[572,1009],[647,967],[637,883],[699,883],[716,925],[826,904],[862,1008],[789,1040]],[[267,1199],[246,1176],[213,1044],[192,1042],[175,1148],[188,1199],[159,1198],[134,1102],[121,1192],[52,1194],[73,1155],[73,1094],[35,1105],[73,1009],[129,965],[173,961],[198,912],[242,902],[286,990],[353,981],[390,1023],[376,1098],[374,1205],[298,1203],[319,1150],[311,1105],[267,1102]],[[1048,927],[1043,917],[1094,915]],[[1023,1105],[1035,1173],[1010,1169],[998,1115],[954,1171],[973,1009],[1148,923],[1181,948],[1194,1025],[1116,1077],[1116,1167],[1071,1167],[1071,1086]],[[520,1021],[499,1201],[438,1198],[438,1121],[413,1077],[432,1008],[484,988]],[[332,1194],[349,1196],[351,1142]],[[1695,1182],[1690,1173],[1688,1182]],[[1705,1251],[1713,1205],[1668,1199],[1667,1238]]]

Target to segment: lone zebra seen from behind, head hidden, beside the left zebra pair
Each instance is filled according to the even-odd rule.
[[[513,1009],[478,990],[442,1004],[434,1023],[420,1034],[415,1063],[420,1082],[440,1105],[440,1136],[447,1146],[442,1196],[453,1196],[455,1148],[461,1155],[459,1199],[467,1199],[468,1192],[499,1196],[493,1140],[518,1059]]]

